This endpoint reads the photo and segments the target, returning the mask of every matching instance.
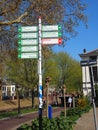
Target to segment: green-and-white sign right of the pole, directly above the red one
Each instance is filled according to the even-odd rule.
[[[46,37],[56,38],[56,37],[61,37],[61,36],[62,36],[61,32],[43,32],[42,33],[42,38],[46,38]]]

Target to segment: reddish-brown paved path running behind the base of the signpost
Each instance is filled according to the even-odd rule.
[[[54,108],[52,110],[53,117],[60,115],[61,111],[64,110],[64,107]],[[43,110],[43,116],[46,115],[46,111]],[[31,121],[38,117],[38,112],[21,115],[19,117],[8,118],[0,120],[0,130],[16,130],[19,126],[24,123],[30,124]]]

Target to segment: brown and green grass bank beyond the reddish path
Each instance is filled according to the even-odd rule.
[[[38,104],[38,98],[35,98],[35,106]],[[31,98],[27,99],[21,99],[20,100],[20,113],[26,114],[31,113],[34,111],[37,111],[37,108],[31,108],[32,102]],[[23,109],[25,108],[25,109]],[[18,116],[18,101],[17,100],[6,100],[6,101],[0,101],[0,119],[2,118],[8,118],[13,116]]]

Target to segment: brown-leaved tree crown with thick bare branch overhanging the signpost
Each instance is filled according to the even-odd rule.
[[[14,58],[17,61],[18,26],[38,25],[38,16],[42,17],[44,25],[59,23],[62,25],[64,43],[70,36],[75,36],[75,27],[80,22],[85,23],[85,25],[87,22],[86,6],[82,0],[3,0],[0,2],[0,7],[0,45],[4,45],[4,50],[0,50],[3,55],[3,57],[0,56],[0,60],[10,56],[11,61]],[[45,47],[44,51],[47,48],[50,49]],[[5,52],[6,55],[4,55]],[[27,65],[28,61],[25,62]],[[2,63],[5,63],[5,60]],[[1,66],[3,65],[1,64]],[[6,66],[7,64],[5,68],[7,68]]]

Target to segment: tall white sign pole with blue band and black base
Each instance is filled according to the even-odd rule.
[[[41,70],[41,62],[42,62],[42,54],[41,54],[41,17],[39,17],[39,61],[38,61],[38,73],[39,73],[39,130],[42,130],[42,70]]]

